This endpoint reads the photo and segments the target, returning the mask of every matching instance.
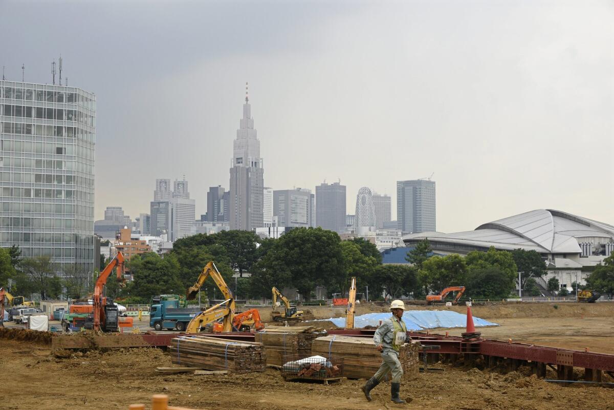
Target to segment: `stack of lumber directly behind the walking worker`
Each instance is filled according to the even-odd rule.
[[[403,379],[418,377],[419,342],[406,343],[400,347],[398,360],[403,368]],[[323,336],[313,341],[311,352],[328,358],[343,358],[343,376],[368,379],[379,369],[381,354],[375,349],[371,338],[354,336]]]

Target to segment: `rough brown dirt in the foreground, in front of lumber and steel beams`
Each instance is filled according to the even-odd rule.
[[[389,385],[373,390],[367,403],[363,381],[341,384],[284,382],[277,370],[224,376],[158,375],[156,366],[170,366],[158,349],[124,349],[77,353],[55,358],[49,349],[0,339],[0,373],[10,375],[0,396],[3,409],[127,409],[166,393],[170,403],[197,409],[391,409]],[[562,387],[525,377],[483,373],[478,369],[441,366],[443,373],[421,374],[402,386],[412,401],[408,409],[612,409],[614,390]]]

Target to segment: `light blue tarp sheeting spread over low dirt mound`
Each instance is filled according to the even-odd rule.
[[[368,313],[354,318],[354,327],[363,328],[365,326],[378,326],[380,320],[391,317],[389,313]],[[338,327],[345,326],[345,317],[332,317],[330,322]],[[403,320],[407,330],[434,329],[438,327],[465,327],[467,325],[467,315],[451,311],[405,311]],[[499,326],[497,323],[488,322],[473,316],[473,324],[480,326]]]

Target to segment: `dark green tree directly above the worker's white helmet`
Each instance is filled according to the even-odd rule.
[[[406,265],[378,265],[375,268],[372,295],[384,293],[386,298],[400,298],[403,295],[421,292],[418,283],[418,268]]]

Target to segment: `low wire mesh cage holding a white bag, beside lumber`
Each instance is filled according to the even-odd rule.
[[[286,379],[324,380],[343,376],[343,358],[322,356],[301,357],[284,355],[281,375]]]

